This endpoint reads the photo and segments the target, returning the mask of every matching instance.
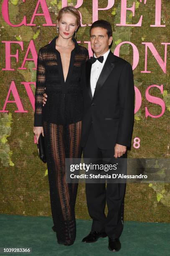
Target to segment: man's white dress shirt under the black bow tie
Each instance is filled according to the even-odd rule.
[[[109,52],[110,52],[110,50],[108,50],[107,52],[105,52],[105,54],[102,55],[104,57],[104,60],[103,60],[102,63],[100,61],[96,60],[91,66],[90,84],[91,84],[92,95],[94,95],[97,80],[99,78],[101,70],[103,69],[104,63],[107,59],[107,56],[108,56]],[[94,57],[96,58],[95,54],[94,54]]]

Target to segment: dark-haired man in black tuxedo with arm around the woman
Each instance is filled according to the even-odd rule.
[[[112,43],[109,22],[94,22],[90,40],[94,57],[86,62],[84,69],[83,156],[84,159],[127,158],[134,122],[132,66],[109,50]],[[91,232],[82,242],[92,243],[108,236],[109,250],[119,251],[125,189],[124,183],[107,183],[107,188],[105,183],[86,183],[87,206],[93,223]],[[104,213],[106,202],[107,217]]]

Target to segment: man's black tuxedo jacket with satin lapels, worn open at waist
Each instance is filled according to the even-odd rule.
[[[91,65],[87,61],[82,74],[84,117],[81,146],[85,146],[93,123],[99,148],[114,149],[116,143],[130,147],[134,123],[132,66],[110,51],[92,97]]]

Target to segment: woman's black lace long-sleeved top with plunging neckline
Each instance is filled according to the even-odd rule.
[[[43,126],[43,120],[56,124],[71,124],[82,120],[84,101],[81,73],[89,53],[73,38],[75,48],[71,51],[65,82],[61,56],[56,50],[56,38],[38,52],[34,126]],[[43,106],[44,92],[47,101]]]

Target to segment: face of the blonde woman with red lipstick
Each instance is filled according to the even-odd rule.
[[[71,13],[65,13],[61,16],[61,19],[57,21],[57,26],[60,36],[65,39],[70,38],[77,29],[77,19]]]

